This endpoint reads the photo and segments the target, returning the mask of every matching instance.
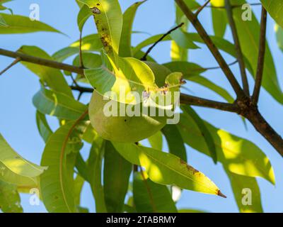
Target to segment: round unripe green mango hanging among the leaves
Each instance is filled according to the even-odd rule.
[[[166,117],[105,116],[103,109],[109,101],[103,100],[103,96],[94,91],[88,109],[93,128],[105,140],[134,143],[154,135],[166,125]]]

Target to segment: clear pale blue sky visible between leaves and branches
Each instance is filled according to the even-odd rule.
[[[136,0],[120,1],[123,11],[135,1]],[[200,2],[202,3],[204,1]],[[11,7],[15,14],[28,16],[30,13],[29,6],[33,3],[40,5],[40,21],[54,26],[54,28],[66,33],[69,37],[56,33],[0,35],[1,48],[17,50],[21,45],[37,45],[52,54],[56,50],[66,47],[79,38],[79,31],[76,26],[76,15],[79,8],[76,6],[74,0],[15,0],[6,4],[6,6]],[[255,9],[257,17],[259,17],[260,7],[254,6],[253,9]],[[149,0],[140,7],[137,13],[137,18],[134,21],[134,31],[146,31],[151,35],[164,33],[174,25],[174,11],[173,0]],[[210,34],[213,34],[209,9],[204,9],[201,14],[201,21],[205,28],[207,28],[207,31],[209,31]],[[88,21],[83,31],[84,35],[95,32],[96,28],[93,20]],[[275,59],[279,82],[282,85],[283,68],[281,61],[283,55],[277,48],[274,34],[274,22],[272,21],[272,18],[268,18],[267,34],[270,48]],[[135,45],[147,37],[148,35],[136,34],[133,37],[133,44]],[[226,32],[226,38],[231,38],[229,32]],[[170,43],[161,43],[152,52],[152,55],[160,63],[168,62],[170,61],[169,50]],[[228,62],[233,60],[228,55],[225,55],[225,57]],[[204,47],[202,50],[190,51],[190,61],[197,62],[204,67],[216,66],[216,62],[212,55],[210,55]],[[71,62],[71,60],[69,62]],[[0,56],[0,69],[6,67],[10,63],[11,59]],[[238,74],[236,65],[233,66],[233,70]],[[226,79],[220,70],[207,72],[206,75],[217,84],[229,87],[229,84],[226,82]],[[250,79],[250,84],[253,84],[252,79]],[[213,92],[209,92],[203,87],[191,83],[188,83],[187,86],[190,87],[190,90],[194,91],[194,95],[222,101],[219,96],[216,96]],[[38,89],[39,82],[37,77],[20,64],[16,65],[0,77],[0,132],[18,153],[37,164],[40,163],[40,157],[42,150],[44,149],[44,143],[37,133],[35,107],[32,104],[33,95]],[[83,101],[88,101],[88,99],[88,95],[83,96]],[[283,106],[277,104],[269,94],[262,92],[259,107],[262,114],[267,118],[271,125],[283,135]],[[248,123],[248,131],[246,131],[243,127],[243,123],[235,114],[227,114],[212,109],[195,109],[202,118],[211,123],[213,122],[214,125],[219,128],[224,128],[226,131],[252,140],[265,154],[267,154],[275,170],[276,186],[272,186],[272,184],[264,179],[258,179],[262,196],[262,206],[265,212],[282,212],[282,157],[280,157],[271,145],[269,145],[269,143],[255,131],[253,126],[250,126],[250,123]],[[56,121],[50,117],[48,119],[52,128],[56,128]],[[83,149],[84,155],[88,153],[88,150],[86,149],[88,147],[89,146],[85,146]],[[222,199],[218,196],[185,191],[183,192],[180,202],[178,202],[178,207],[202,209],[212,212],[238,212],[236,202],[233,199],[229,179],[226,177],[221,164],[214,165],[210,158],[192,150],[192,148],[187,148],[187,155],[190,165],[209,176],[228,198]],[[23,208],[26,212],[45,212],[45,208],[42,204],[40,206],[30,206],[28,203],[28,195],[23,195],[21,197]],[[90,211],[95,210],[91,191],[87,185],[83,188],[82,205],[88,207]]]

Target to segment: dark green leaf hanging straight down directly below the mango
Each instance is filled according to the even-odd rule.
[[[110,141],[106,141],[103,185],[105,205],[109,213],[123,211],[131,172],[132,164],[117,153]]]

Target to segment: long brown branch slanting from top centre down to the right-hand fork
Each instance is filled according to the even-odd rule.
[[[204,40],[204,43],[209,48],[210,52],[212,52],[212,55],[214,55],[215,60],[218,62],[219,66],[221,67],[221,70],[226,75],[227,79],[229,80],[231,86],[233,87],[233,90],[236,92],[238,98],[242,98],[246,96],[246,94],[241,89],[240,84],[238,84],[236,78],[234,77],[232,71],[229,68],[229,65],[227,65],[226,61],[222,57],[219,50],[216,48],[214,43],[212,42],[212,39],[209,37],[207,32],[204,30],[202,24],[197,19],[194,13],[187,8],[187,5],[183,0],[175,0],[175,2],[178,4],[180,9],[182,9],[183,13],[185,13],[185,16],[189,19],[189,21],[192,23],[192,25],[195,27],[197,33],[199,33],[202,40]]]

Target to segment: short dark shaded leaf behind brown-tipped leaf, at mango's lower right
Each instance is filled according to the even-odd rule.
[[[177,126],[166,125],[164,128],[162,128],[162,133],[165,135],[167,140],[169,152],[187,162],[187,153],[185,150],[184,141],[180,135],[180,132],[178,131]]]

